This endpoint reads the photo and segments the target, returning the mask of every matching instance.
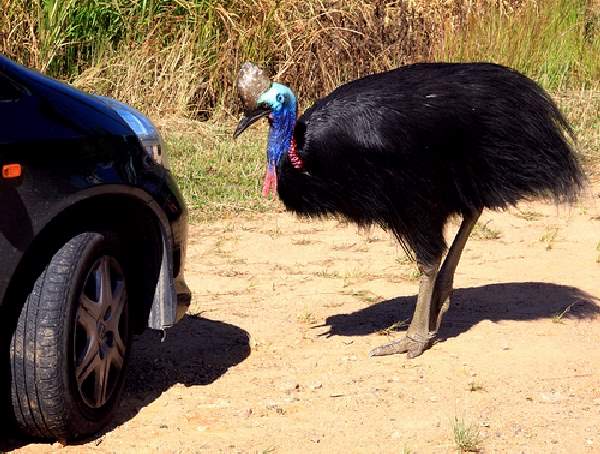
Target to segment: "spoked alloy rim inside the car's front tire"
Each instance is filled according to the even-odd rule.
[[[91,408],[104,406],[118,386],[126,354],[126,304],[123,271],[104,255],[86,277],[75,317],[77,389]]]

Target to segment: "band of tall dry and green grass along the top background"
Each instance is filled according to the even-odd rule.
[[[597,0],[0,0],[0,51],[158,116],[235,110],[245,60],[312,100],[422,60],[598,88]]]

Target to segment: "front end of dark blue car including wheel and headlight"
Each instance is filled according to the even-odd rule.
[[[0,56],[0,391],[23,432],[100,430],[132,334],[189,306],[166,158],[138,111]]]

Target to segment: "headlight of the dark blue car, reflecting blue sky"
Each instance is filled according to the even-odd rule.
[[[167,167],[167,153],[156,126],[144,114],[113,98],[100,97],[137,136],[147,156],[157,164]]]

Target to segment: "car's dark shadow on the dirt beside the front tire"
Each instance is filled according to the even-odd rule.
[[[113,422],[93,437],[72,444],[88,443],[110,432],[173,385],[209,385],[250,355],[248,333],[227,323],[186,315],[166,333],[164,342],[159,332],[151,330],[134,339],[123,398]],[[0,452],[39,442],[0,434]]]

